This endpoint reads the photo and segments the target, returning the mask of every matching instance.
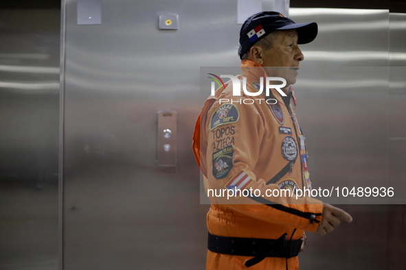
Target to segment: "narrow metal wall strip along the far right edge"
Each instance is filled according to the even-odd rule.
[[[405,194],[406,179],[406,14],[390,14],[389,179]],[[405,204],[389,206],[387,269],[404,267]]]

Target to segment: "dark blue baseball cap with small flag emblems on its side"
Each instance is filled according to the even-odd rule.
[[[317,36],[317,23],[295,23],[280,12],[264,11],[250,16],[240,29],[240,58],[256,42],[275,30],[296,29],[299,36],[297,43],[312,42]]]

